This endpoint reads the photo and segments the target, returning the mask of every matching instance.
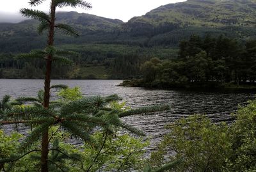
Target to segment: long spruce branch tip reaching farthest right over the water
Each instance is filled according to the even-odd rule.
[[[138,109],[131,109],[129,111],[124,111],[118,116],[120,118],[125,117],[125,116],[132,116],[136,114],[146,114],[146,113],[155,113],[159,111],[167,111],[170,109],[170,106],[163,105],[163,106],[149,106],[149,107],[140,107]]]

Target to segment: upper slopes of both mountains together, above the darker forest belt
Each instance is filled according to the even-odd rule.
[[[255,19],[256,2],[251,0],[188,0],[166,4],[126,23],[86,13],[59,12],[57,22],[74,26],[81,36],[74,39],[58,36],[56,43],[175,47],[191,34],[249,39],[256,36]],[[26,52],[43,47],[44,36],[37,35],[37,24],[35,20],[0,24],[0,51]]]

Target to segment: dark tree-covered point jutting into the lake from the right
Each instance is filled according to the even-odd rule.
[[[256,40],[243,43],[223,35],[191,35],[180,42],[177,58],[146,61],[140,66],[143,79],[125,81],[124,85],[180,88],[255,84],[255,54]]]

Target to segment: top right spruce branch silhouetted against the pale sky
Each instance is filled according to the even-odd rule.
[[[75,8],[76,6],[79,6],[81,8],[92,8],[92,4],[86,3],[86,1],[82,0],[55,0],[56,6],[59,8],[62,8],[64,6],[71,6]]]

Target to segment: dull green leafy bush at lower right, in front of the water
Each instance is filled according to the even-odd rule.
[[[219,171],[232,152],[230,134],[225,123],[216,125],[205,116],[182,118],[169,125],[170,134],[164,136],[158,152],[152,153],[152,162],[161,164],[164,154],[174,150],[172,160],[183,159],[177,171]],[[160,162],[159,162],[160,160]]]

